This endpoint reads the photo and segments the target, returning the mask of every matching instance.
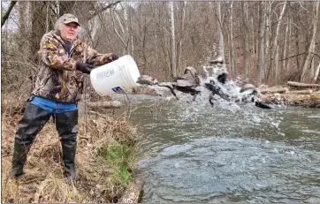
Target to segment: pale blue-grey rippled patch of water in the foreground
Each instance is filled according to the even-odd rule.
[[[299,195],[308,191],[319,173],[320,154],[312,162],[306,159],[309,154],[246,138],[205,138],[165,147],[150,161],[152,176],[144,201],[303,200]],[[298,194],[290,197],[291,193]],[[312,193],[320,194],[320,184]]]

